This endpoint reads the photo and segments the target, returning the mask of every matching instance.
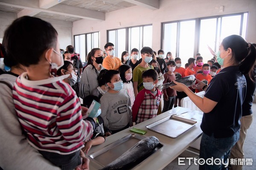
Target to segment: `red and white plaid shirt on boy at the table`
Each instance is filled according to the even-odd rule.
[[[162,93],[156,88],[157,94],[154,95],[145,88],[140,91],[132,107],[132,122],[137,124],[157,116],[157,110],[161,101]]]

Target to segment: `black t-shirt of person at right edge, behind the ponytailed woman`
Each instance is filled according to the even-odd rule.
[[[253,75],[256,75],[256,71],[253,71]],[[252,111],[252,102],[253,102],[253,94],[256,89],[255,77],[253,77],[253,81],[250,79],[249,75],[244,75],[246,79],[246,96],[242,105],[242,116],[247,116],[253,113]]]

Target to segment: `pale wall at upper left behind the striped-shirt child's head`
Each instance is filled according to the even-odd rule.
[[[6,28],[12,24],[12,22],[17,18],[17,14],[0,12],[0,42],[3,38],[4,31]],[[66,49],[67,45],[72,45],[72,27],[73,23],[70,21],[52,20],[41,18],[52,24],[52,26],[58,32],[58,39],[60,43],[60,48]]]

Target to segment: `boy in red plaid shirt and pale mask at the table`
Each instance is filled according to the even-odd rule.
[[[157,85],[157,71],[149,69],[142,74],[144,89],[138,93],[132,107],[132,121],[136,124],[157,116],[162,93]]]

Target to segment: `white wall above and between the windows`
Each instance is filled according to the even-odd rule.
[[[224,12],[219,12],[216,6],[224,6]],[[152,24],[152,48],[158,50],[162,22],[239,12],[249,12],[246,40],[256,42],[256,0],[160,0],[157,10],[132,6],[106,13],[105,21],[78,20],[73,23],[73,35],[100,31],[99,48],[103,49],[107,42],[107,30]]]

